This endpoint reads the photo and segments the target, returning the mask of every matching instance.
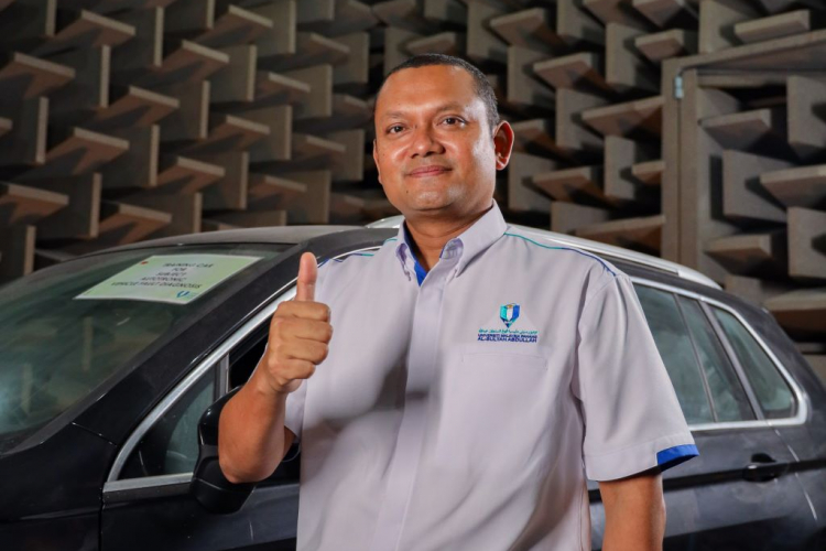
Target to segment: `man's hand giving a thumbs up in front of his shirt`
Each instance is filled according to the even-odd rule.
[[[315,302],[318,267],[312,252],[301,256],[295,298],[279,304],[270,322],[267,352],[250,382],[268,395],[286,396],[315,372],[333,337],[330,312]]]

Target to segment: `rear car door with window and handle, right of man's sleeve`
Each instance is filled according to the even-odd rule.
[[[632,279],[699,451],[663,473],[664,549],[800,549],[793,530],[807,511],[790,472],[794,456],[756,403],[708,307],[737,313],[682,287]],[[599,549],[604,511],[591,512]]]

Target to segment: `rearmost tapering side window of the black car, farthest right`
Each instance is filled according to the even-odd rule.
[[[794,415],[792,390],[760,343],[729,312],[718,307],[714,307],[713,311],[737,354],[763,414],[768,419]]]

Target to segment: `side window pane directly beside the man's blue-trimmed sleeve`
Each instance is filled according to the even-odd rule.
[[[694,346],[674,295],[645,285],[634,285],[634,289],[686,421],[713,422],[711,406],[703,385]]]

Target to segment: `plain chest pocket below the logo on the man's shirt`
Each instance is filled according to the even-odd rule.
[[[540,450],[551,396],[547,358],[519,346],[469,345],[443,366],[435,430],[441,464],[506,471]]]

